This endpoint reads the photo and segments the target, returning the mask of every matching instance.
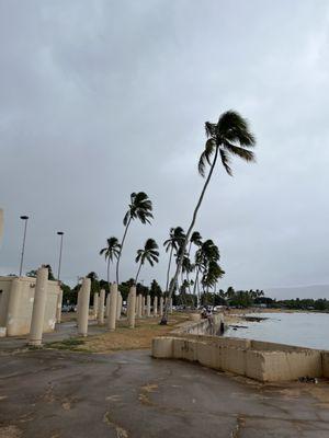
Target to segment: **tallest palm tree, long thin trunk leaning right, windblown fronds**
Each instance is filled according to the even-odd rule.
[[[194,209],[192,221],[188,229],[183,243],[183,250],[186,249],[190,235],[192,234],[192,231],[194,229],[197,212],[200,210],[205,192],[214,173],[218,157],[224,169],[230,176],[232,176],[232,171],[230,168],[230,155],[237,155],[248,162],[254,161],[254,154],[248,148],[256,146],[256,139],[249,129],[248,122],[239,113],[235,111],[227,111],[226,113],[220,115],[217,123],[214,124],[211,122],[206,122],[205,131],[207,140],[205,142],[205,149],[198,160],[198,173],[201,174],[201,176],[205,177],[207,165],[209,165],[209,171],[206,176],[196,207]],[[171,283],[171,287],[169,290],[168,303],[172,296],[173,287],[177,283],[181,268],[182,260],[180,260],[177,265],[173,281]],[[168,303],[164,308],[161,324],[167,324],[168,321]]]

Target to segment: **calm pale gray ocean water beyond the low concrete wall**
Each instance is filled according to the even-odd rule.
[[[230,327],[224,336],[329,350],[329,313],[250,313],[248,316],[261,316],[266,320],[241,320],[236,325],[247,328]]]

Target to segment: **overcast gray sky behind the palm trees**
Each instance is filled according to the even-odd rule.
[[[203,180],[204,122],[249,118],[257,164],[218,166],[196,228],[220,249],[223,287],[329,283],[329,3],[327,0],[0,0],[0,274],[105,276],[98,255],[122,237],[129,194],[155,221],[134,222],[135,252],[186,228]],[[161,249],[162,251],[162,249]],[[167,254],[140,278],[163,286]]]

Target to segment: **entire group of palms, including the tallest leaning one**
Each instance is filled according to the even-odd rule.
[[[192,221],[188,231],[181,227],[171,228],[169,239],[164,242],[166,251],[169,252],[169,264],[167,270],[166,291],[168,300],[172,298],[174,290],[178,288],[179,276],[181,275],[181,290],[189,291],[193,286],[193,292],[198,293],[200,284],[206,290],[215,288],[217,280],[223,277],[224,270],[220,268],[219,251],[212,240],[202,241],[197,231],[194,230],[197,214],[205,192],[213,176],[215,166],[218,161],[222,162],[228,175],[232,175],[230,159],[237,155],[247,162],[254,161],[254,154],[250,150],[256,145],[256,139],[249,129],[248,122],[237,112],[228,111],[219,116],[217,123],[205,123],[206,142],[204,151],[198,160],[198,173],[205,177],[205,183],[201,191],[201,195],[193,211]],[[208,168],[208,172],[206,170]],[[120,283],[120,261],[127,232],[132,221],[138,219],[141,223],[150,223],[152,219],[152,204],[144,192],[133,193],[131,195],[131,204],[126,215],[124,216],[124,233],[121,243],[116,238],[107,239],[106,247],[101,250],[107,262],[107,281],[110,283],[110,264],[116,260],[116,283]],[[194,247],[195,246],[195,247]],[[191,250],[194,247],[194,257],[192,261]],[[172,258],[175,257],[175,269],[170,280],[172,267]],[[136,263],[138,264],[136,273],[136,281],[145,262],[149,262],[151,266],[158,263],[159,252],[158,245],[152,239],[148,239],[144,249],[137,251]],[[191,279],[193,275],[193,279]],[[166,306],[162,324],[167,324],[169,304]]]

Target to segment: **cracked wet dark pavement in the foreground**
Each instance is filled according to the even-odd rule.
[[[4,354],[0,438],[328,438],[328,404],[309,388],[246,383],[147,350]]]

